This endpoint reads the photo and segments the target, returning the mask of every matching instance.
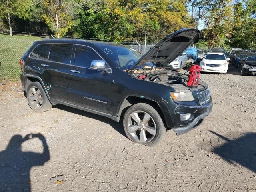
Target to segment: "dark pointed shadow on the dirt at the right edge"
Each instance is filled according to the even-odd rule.
[[[232,164],[237,162],[256,173],[256,133],[248,132],[240,138],[230,140],[216,132],[210,132],[225,140],[224,144],[212,150],[214,153]]]

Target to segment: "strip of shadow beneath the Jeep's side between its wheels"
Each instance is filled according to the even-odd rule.
[[[120,134],[122,134],[124,137],[127,138],[127,136],[126,136],[126,134],[124,132],[124,127],[123,127],[123,124],[122,124],[122,120],[120,120],[120,122],[116,122],[116,121],[114,121],[114,120],[112,120],[110,118],[104,117],[104,116],[100,116],[100,115],[97,115],[97,114],[93,114],[93,113],[90,113],[90,112],[86,112],[86,111],[83,111],[83,110],[79,110],[79,109],[72,108],[72,107],[65,106],[65,105],[61,105],[61,104],[58,104],[58,105],[56,105],[54,107],[58,108],[60,110],[64,110],[64,111],[67,111],[67,112],[70,112],[70,113],[86,116],[88,118],[92,118],[92,119],[104,122],[106,124],[109,124],[117,132],[119,132]]]

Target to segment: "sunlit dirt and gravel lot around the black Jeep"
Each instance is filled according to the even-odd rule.
[[[19,84],[0,85],[0,191],[256,191],[256,76],[231,69],[201,78],[212,114],[188,134],[169,130],[156,147],[88,112],[36,113]]]

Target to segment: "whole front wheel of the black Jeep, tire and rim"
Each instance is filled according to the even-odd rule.
[[[162,118],[145,103],[131,106],[124,114],[123,125],[130,140],[146,146],[156,146],[166,135]]]

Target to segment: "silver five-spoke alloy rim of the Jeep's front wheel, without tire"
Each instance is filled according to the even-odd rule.
[[[138,142],[150,142],[156,136],[156,124],[152,116],[144,111],[135,111],[128,118],[128,131]]]

